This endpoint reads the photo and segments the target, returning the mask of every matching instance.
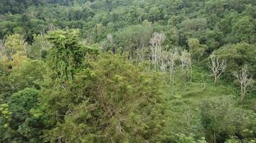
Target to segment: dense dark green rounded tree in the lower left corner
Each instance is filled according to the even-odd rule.
[[[24,89],[9,97],[7,109],[12,114],[6,131],[0,131],[1,142],[42,142],[42,123],[30,114],[31,109],[37,108],[38,94],[36,89]]]

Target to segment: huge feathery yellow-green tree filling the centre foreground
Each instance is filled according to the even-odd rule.
[[[102,54],[72,84],[45,92],[47,111],[58,119],[47,137],[52,142],[157,142],[165,124],[159,76],[118,54]]]

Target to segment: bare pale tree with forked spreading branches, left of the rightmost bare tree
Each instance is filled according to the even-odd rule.
[[[214,84],[218,81],[221,74],[225,71],[227,64],[224,60],[219,60],[219,57],[216,57],[214,55],[210,56],[211,61],[208,62],[208,66],[213,72],[214,75]]]

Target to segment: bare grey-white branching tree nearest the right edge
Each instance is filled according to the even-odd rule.
[[[240,71],[234,71],[234,77],[237,78],[237,80],[240,84],[241,103],[242,103],[247,92],[250,89],[252,89],[253,79],[250,76],[250,72],[248,71],[246,66],[244,66]]]

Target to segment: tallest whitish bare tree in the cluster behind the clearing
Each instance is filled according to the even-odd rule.
[[[163,43],[164,40],[165,35],[159,33],[154,33],[152,35],[152,38],[150,39],[150,44],[152,45],[152,62],[154,63],[155,69],[158,68],[162,59],[163,51],[161,44]]]

